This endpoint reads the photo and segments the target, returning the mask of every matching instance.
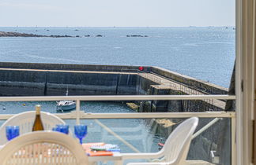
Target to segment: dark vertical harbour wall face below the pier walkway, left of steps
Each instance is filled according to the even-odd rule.
[[[136,93],[137,75],[0,70],[2,96],[122,95]]]

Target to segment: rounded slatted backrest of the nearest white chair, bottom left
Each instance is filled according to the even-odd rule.
[[[88,164],[85,150],[74,138],[53,131],[23,134],[0,150],[0,161],[10,164]]]

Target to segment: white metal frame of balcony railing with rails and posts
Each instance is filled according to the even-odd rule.
[[[220,118],[231,119],[232,164],[235,164],[235,112],[147,112],[147,113],[87,113],[81,111],[81,101],[145,101],[145,100],[204,100],[221,99],[235,100],[235,96],[229,95],[111,95],[111,96],[61,96],[61,97],[0,97],[0,101],[59,101],[73,100],[77,102],[76,111],[67,113],[55,113],[61,119],[166,119],[166,118],[215,118],[194,134],[197,137],[207,128],[211,127]],[[9,119],[13,114],[1,114],[0,119]]]

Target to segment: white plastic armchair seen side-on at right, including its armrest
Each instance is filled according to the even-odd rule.
[[[123,153],[122,159],[156,159],[164,156],[164,162],[128,163],[127,165],[177,165],[185,164],[187,152],[194,130],[198,126],[198,117],[186,119],[169,135],[164,147],[154,153]]]

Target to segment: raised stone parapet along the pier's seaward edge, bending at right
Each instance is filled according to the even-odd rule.
[[[68,71],[95,71],[95,72],[141,72],[139,66],[127,65],[99,65],[99,64],[43,64],[43,63],[14,63],[0,62],[0,68],[19,69],[43,69],[43,70],[68,70]],[[187,75],[172,72],[164,68],[143,66],[143,72],[161,75],[177,83],[182,83],[207,94],[228,94],[228,89],[208,83],[199,79],[194,79]]]

